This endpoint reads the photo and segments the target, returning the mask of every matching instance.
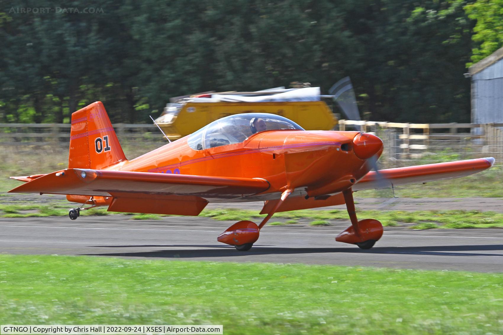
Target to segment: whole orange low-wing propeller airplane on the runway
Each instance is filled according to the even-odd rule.
[[[11,177],[17,193],[65,194],[114,212],[198,215],[209,202],[264,201],[256,224],[243,220],[217,240],[248,250],[276,212],[346,204],[351,226],[336,240],[371,248],[378,220],[358,220],[353,192],[468,176],[494,158],[371,171],[381,139],[358,131],[306,131],[279,115],[236,114],[128,160],[101,102],[71,116],[68,169]],[[76,219],[88,208],[74,208]]]

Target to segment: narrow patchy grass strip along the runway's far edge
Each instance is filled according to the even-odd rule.
[[[53,205],[0,205],[0,217],[47,217],[68,215],[66,204]],[[161,220],[166,216],[159,214],[137,214],[108,212],[106,208],[92,208],[81,211],[80,215],[130,215],[133,220]],[[253,210],[241,209],[211,209],[204,210],[200,216],[223,221],[251,220],[259,222],[265,214]],[[503,213],[480,212],[476,210],[429,210],[429,211],[398,211],[398,210],[367,210],[358,211],[360,219],[373,218],[381,221],[383,226],[399,226],[412,223],[412,229],[432,228],[503,228]],[[349,221],[346,210],[312,210],[304,209],[274,214],[274,221],[269,225],[296,224],[299,221],[310,222],[311,226],[330,225],[333,220]]]

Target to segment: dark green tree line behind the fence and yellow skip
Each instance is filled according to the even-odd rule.
[[[23,6],[55,8],[48,1]],[[102,11],[0,8],[0,121],[68,122],[71,112],[101,100],[114,122],[147,122],[173,96],[296,80],[327,90],[347,75],[366,119],[469,120],[463,73],[474,21],[463,7],[474,12],[461,0],[65,6]]]

